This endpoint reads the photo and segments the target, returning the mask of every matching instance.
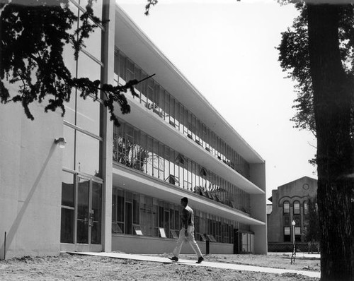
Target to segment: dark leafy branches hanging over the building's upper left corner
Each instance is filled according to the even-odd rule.
[[[136,95],[130,80],[126,85],[102,84],[100,80],[75,78],[64,64],[63,48],[72,44],[74,58],[85,47],[84,41],[98,24],[93,15],[93,0],[80,18],[69,9],[69,0],[1,0],[0,1],[0,101],[21,102],[26,116],[34,119],[29,109],[32,102],[45,102],[45,112],[62,109],[69,102],[72,88],[84,99],[101,97],[110,119],[119,124],[114,114],[118,103],[122,114],[130,112],[124,93]],[[78,20],[79,28],[75,28]],[[17,90],[8,90],[8,87]]]

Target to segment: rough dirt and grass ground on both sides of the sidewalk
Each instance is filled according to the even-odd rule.
[[[155,256],[169,256],[161,254]],[[205,261],[258,265],[272,268],[319,271],[319,258],[302,257],[295,265],[290,256],[278,255],[208,255]],[[180,258],[195,259],[193,255]],[[183,265],[181,263],[153,263],[101,256],[79,256],[62,253],[58,257],[23,257],[0,261],[0,280],[232,280],[232,281],[319,281],[318,278],[297,274],[255,273],[220,268]]]

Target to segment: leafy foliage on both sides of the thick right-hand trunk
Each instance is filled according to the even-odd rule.
[[[291,28],[282,32],[282,41],[277,48],[279,61],[283,71],[287,72],[287,78],[292,78],[297,84],[295,92],[297,98],[293,108],[297,110],[292,118],[296,128],[302,128],[314,133],[316,136],[316,124],[314,121],[313,89],[309,73],[309,39],[307,32],[307,8],[304,3],[297,2],[300,16],[295,18]],[[347,5],[341,10],[341,28],[339,32],[341,59],[348,76],[353,76],[354,71],[354,6]],[[354,124],[353,124],[354,128]]]

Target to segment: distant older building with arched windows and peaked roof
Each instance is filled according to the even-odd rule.
[[[272,191],[267,205],[268,242],[300,242],[308,225],[308,201],[317,194],[317,180],[302,177]],[[295,226],[292,222],[295,222]],[[295,232],[295,233],[294,233]],[[295,234],[295,235],[294,235]]]

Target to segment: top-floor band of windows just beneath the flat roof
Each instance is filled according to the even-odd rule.
[[[120,83],[123,84],[125,80],[132,78],[137,80],[144,79],[147,77],[147,73],[139,68],[134,61],[131,61],[127,56],[122,54],[122,52],[116,50],[115,76],[119,76]],[[219,138],[215,132],[203,124],[200,119],[189,112],[173,95],[170,95],[161,85],[156,83],[154,79],[144,80],[136,88],[141,96],[140,103],[155,114],[158,114],[171,124],[171,126],[174,126],[176,130],[184,133],[185,136],[194,140],[198,145],[201,145],[205,150],[212,153],[212,155],[218,157],[219,160],[222,160],[229,167],[249,179],[249,163],[238,155],[224,140]],[[150,175],[153,174],[150,173]]]

